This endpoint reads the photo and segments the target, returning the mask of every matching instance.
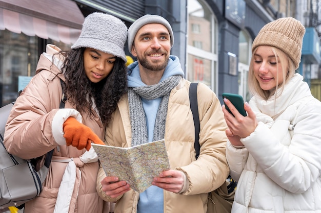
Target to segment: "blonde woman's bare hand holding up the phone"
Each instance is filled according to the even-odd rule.
[[[240,138],[245,138],[254,132],[257,126],[256,115],[247,102],[244,104],[244,109],[248,113],[248,116],[240,114],[228,99],[224,99],[224,103],[234,114],[233,116],[229,113],[226,110],[225,105],[223,105],[224,118],[229,128],[226,130],[226,135],[232,145],[243,146],[241,145]]]

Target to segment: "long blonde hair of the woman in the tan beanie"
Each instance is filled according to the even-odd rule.
[[[278,64],[278,61],[280,61],[281,63],[282,76],[277,75],[276,82],[278,82],[278,78],[283,78],[283,81],[279,85],[276,85],[273,89],[263,90],[260,87],[258,81],[256,80],[254,70],[253,70],[253,63],[254,63],[253,56],[257,48],[258,46],[252,51],[252,58],[251,58],[250,67],[249,67],[249,79],[248,79],[249,90],[252,94],[256,94],[264,100],[268,100],[275,94],[276,91],[278,91],[279,93],[275,94],[275,98],[277,98],[282,93],[284,89],[284,85],[294,76],[295,65],[291,60],[291,58],[285,52],[283,52],[278,48],[275,48],[274,46],[270,46],[272,52],[275,55],[275,58],[278,58],[278,60],[276,60],[276,64]],[[280,90],[278,90],[279,88]]]

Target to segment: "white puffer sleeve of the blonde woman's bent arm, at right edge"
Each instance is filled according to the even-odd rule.
[[[320,121],[321,103],[311,101],[298,112],[289,146],[263,123],[242,143],[275,183],[289,192],[303,193],[320,177]]]

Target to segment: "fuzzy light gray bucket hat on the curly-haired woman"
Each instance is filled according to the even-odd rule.
[[[121,19],[94,12],[85,18],[81,35],[71,49],[93,48],[122,58],[126,63],[124,52],[126,36],[127,27]]]

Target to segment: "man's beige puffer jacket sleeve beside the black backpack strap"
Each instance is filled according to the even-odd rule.
[[[198,113],[200,121],[200,152],[196,161],[184,167],[189,188],[184,195],[211,192],[222,185],[229,174],[226,161],[227,136],[222,106],[215,93],[205,84],[197,87]]]

